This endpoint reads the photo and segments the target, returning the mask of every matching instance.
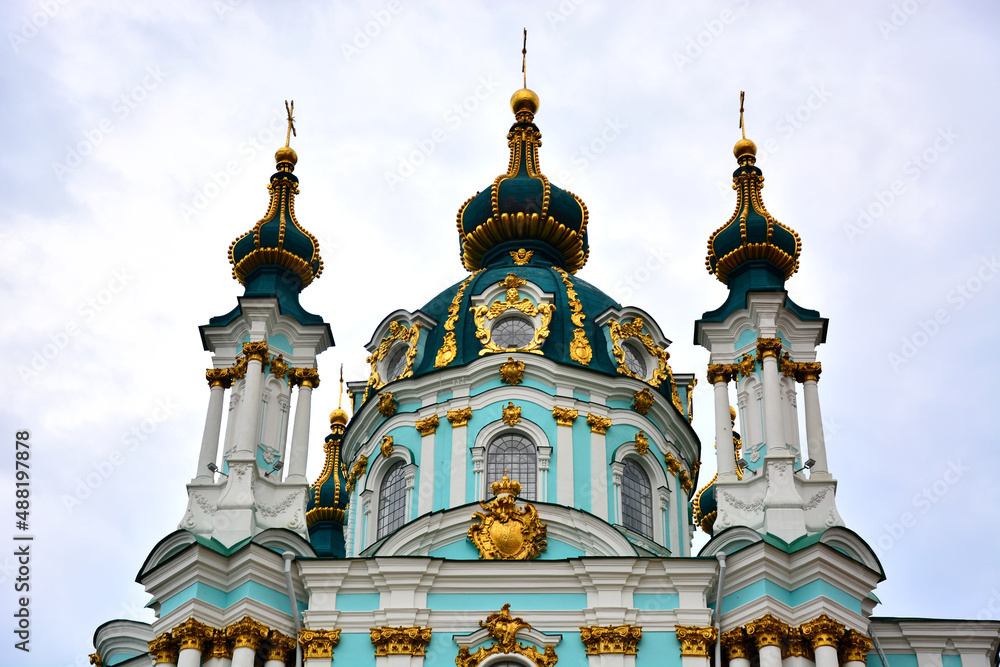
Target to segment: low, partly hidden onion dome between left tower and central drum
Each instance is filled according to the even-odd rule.
[[[309,488],[306,525],[309,528],[309,541],[318,556],[343,558],[347,554],[344,521],[349,494],[347,471],[340,449],[346,426],[346,412],[337,408],[330,413],[330,435],[326,436],[323,443],[323,450],[326,452],[323,472]]]

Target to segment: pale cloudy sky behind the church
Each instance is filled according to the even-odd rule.
[[[578,275],[650,313],[701,379],[702,474],[693,322],[725,299],[705,244],[735,205],[744,90],[765,204],[802,239],[789,295],[830,320],[829,464],[887,574],[875,613],[1000,618],[998,18],[917,0],[0,4],[0,664],[85,665],[99,624],[151,620],[134,578],[196,474],[197,327],[242,293],[226,251],[266,210],[284,100],[325,262],[302,303],[336,340],[315,478],[339,364],[366,379],[382,319],[466,275],[455,213],[506,168],[524,27],[542,170],[590,211]],[[12,640],[24,534],[30,653]]]

